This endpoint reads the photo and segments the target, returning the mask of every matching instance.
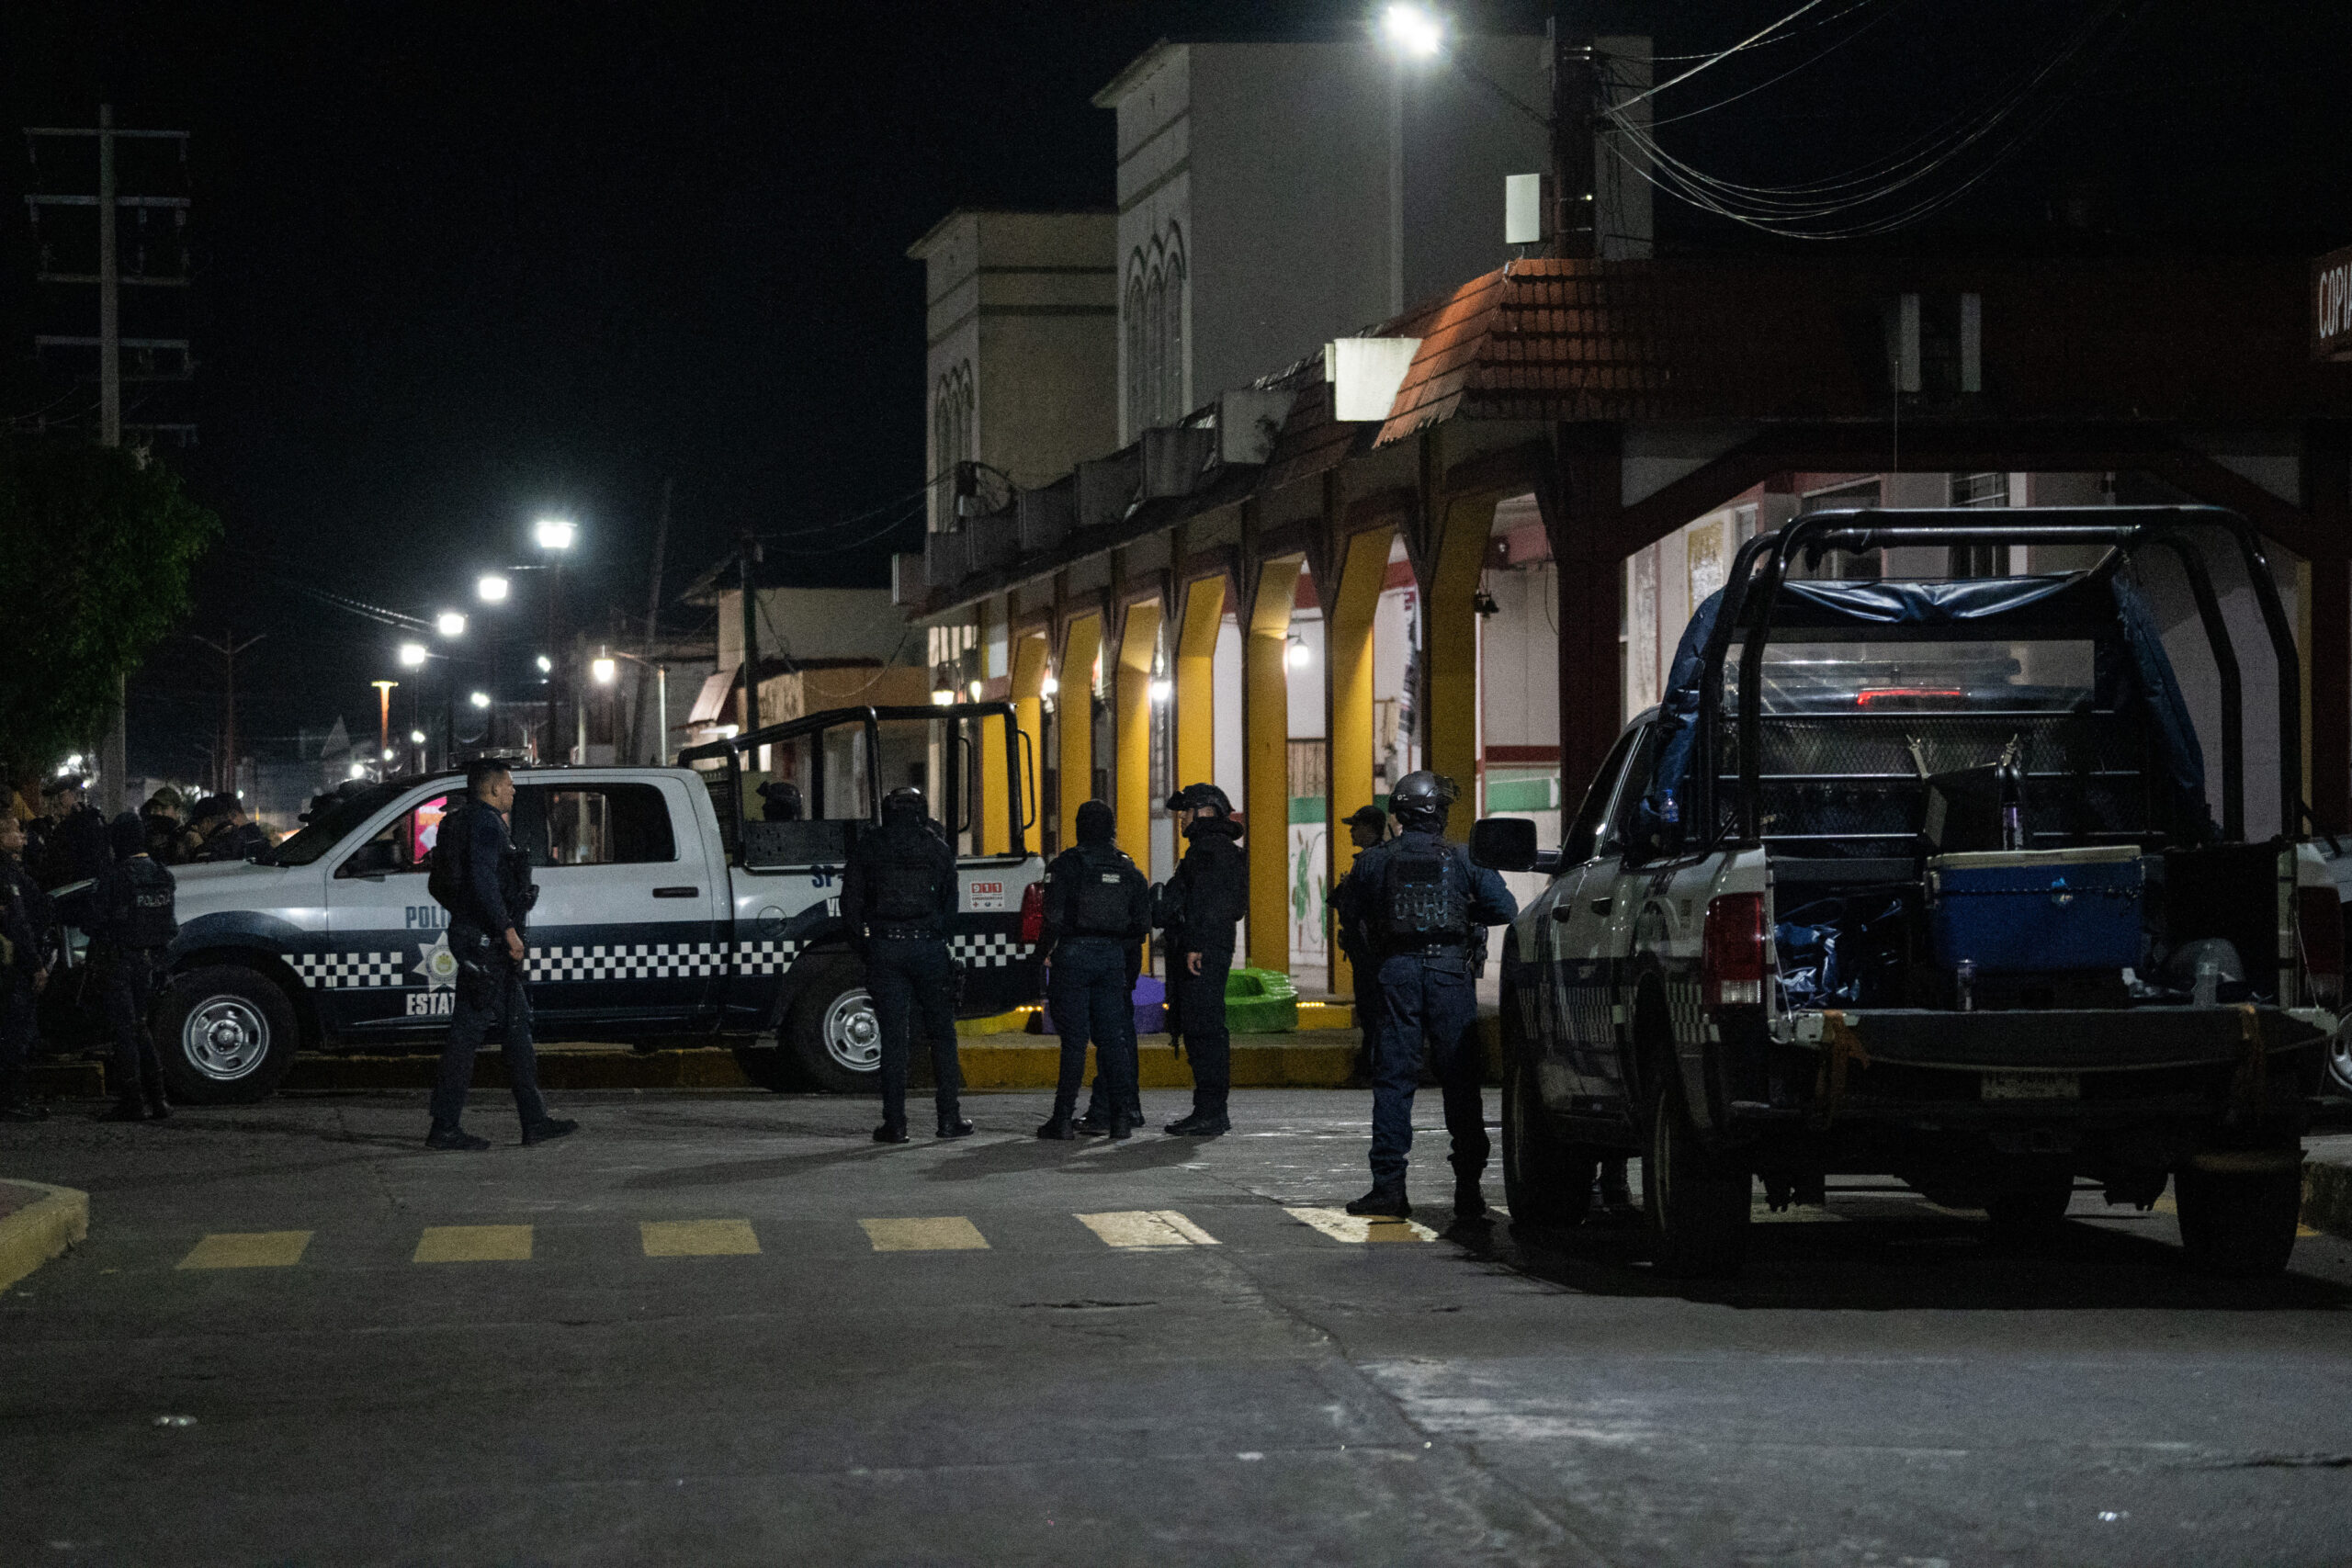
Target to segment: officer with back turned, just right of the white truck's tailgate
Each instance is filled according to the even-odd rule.
[[[1136,1128],[1136,1004],[1131,961],[1152,929],[1152,889],[1110,842],[1110,806],[1089,799],[1077,809],[1077,846],[1044,867],[1044,938],[1040,957],[1054,964],[1047,999],[1061,1030],[1061,1081],[1054,1114],[1040,1138],[1077,1138],[1077,1081],[1094,1037],[1096,1088],[1105,1131],[1117,1140]]]

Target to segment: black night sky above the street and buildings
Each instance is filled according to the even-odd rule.
[[[1795,2],[1609,9],[1668,16],[1658,47],[1684,52]],[[1870,0],[1816,33],[1884,14],[1865,35],[1670,146],[1733,174],[1844,167],[1971,101],[2100,2]],[[922,284],[908,242],[957,205],[1108,205],[1110,115],[1089,94],[1155,38],[1364,9],[7,0],[0,108],[12,127],[87,125],[106,94],[122,125],[195,132],[202,444],[174,461],[230,531],[200,581],[202,628],[268,632],[240,672],[245,729],[285,736],[336,712],[365,722],[367,679],[397,675],[395,632],[256,564],[405,611],[473,609],[475,569],[527,559],[529,520],[562,510],[583,527],[574,614],[602,621],[609,602],[642,614],[663,475],[677,482],[673,595],[746,522],[823,524],[910,491]],[[2333,7],[2126,9],[2129,35],[2067,113],[1896,247],[2300,254],[2352,237],[2331,108],[2352,35],[2317,19]],[[1726,66],[1686,103],[1809,49]],[[2053,216],[2056,195],[2074,197],[2070,214]],[[1661,228],[1684,252],[1759,244],[1665,209]],[[28,364],[31,331],[56,329],[35,324],[28,273],[9,200],[0,414],[56,395]],[[795,567],[875,583],[891,543]],[[699,614],[677,609],[677,625]],[[195,766],[209,670],[176,642],[136,677],[134,769]]]

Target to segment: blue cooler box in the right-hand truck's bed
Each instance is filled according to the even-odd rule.
[[[1929,943],[1938,966],[1985,976],[2131,969],[2143,891],[2136,844],[1931,856]]]

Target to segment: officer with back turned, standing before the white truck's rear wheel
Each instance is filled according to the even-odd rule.
[[[762,795],[776,788],[767,785]],[[776,797],[767,799],[774,811]],[[797,811],[800,790],[793,790],[793,806]],[[873,992],[875,1018],[882,1023],[882,1126],[875,1128],[875,1143],[906,1143],[906,1070],[915,1025],[931,1048],[938,1135],[971,1135],[971,1124],[957,1107],[964,1074],[955,1060],[955,961],[948,957],[953,914],[955,851],[931,832],[922,790],[891,790],[882,797],[882,832],[858,839],[842,875],[842,922],[866,961],[866,990]]]

